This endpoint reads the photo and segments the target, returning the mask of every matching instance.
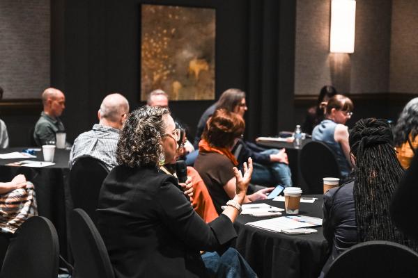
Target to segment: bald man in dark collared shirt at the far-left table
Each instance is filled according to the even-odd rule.
[[[65,95],[58,89],[47,88],[42,92],[43,111],[33,131],[36,145],[42,146],[54,140],[57,132],[65,132],[59,116],[65,109]]]

